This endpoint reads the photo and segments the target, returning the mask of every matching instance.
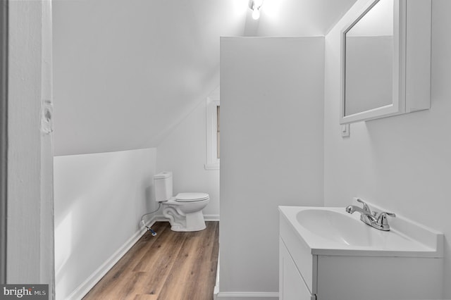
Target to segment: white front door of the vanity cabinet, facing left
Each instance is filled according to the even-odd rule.
[[[316,296],[312,295],[305,285],[282,239],[279,242],[279,251],[279,299],[315,300]]]

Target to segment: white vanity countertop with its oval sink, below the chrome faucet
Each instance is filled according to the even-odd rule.
[[[279,206],[279,211],[285,220],[281,224],[291,227],[311,254],[443,256],[442,233],[399,215],[390,219],[390,231],[381,231],[363,223],[360,213],[347,213],[344,207]]]

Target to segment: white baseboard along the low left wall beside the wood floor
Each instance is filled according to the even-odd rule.
[[[156,222],[156,217],[149,220],[149,223],[147,223],[147,226],[152,226]],[[130,239],[128,239],[127,242],[125,242],[121,248],[119,248],[110,258],[108,258],[97,270],[94,271],[89,277],[87,277],[87,280],[82,282],[81,285],[79,285],[67,298],[66,300],[80,300],[82,299],[93,287],[101,280],[102,277],[106,273],[108,273],[111,268],[113,268],[113,265],[115,265],[134,244],[140,239],[144,233],[146,233],[146,228],[140,229],[137,232],[135,232],[135,235],[132,235]]]

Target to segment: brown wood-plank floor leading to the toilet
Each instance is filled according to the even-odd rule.
[[[85,300],[211,300],[218,263],[219,223],[199,232],[173,232],[167,222],[152,226]]]

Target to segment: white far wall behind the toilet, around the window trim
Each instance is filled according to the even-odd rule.
[[[219,218],[219,170],[205,170],[206,100],[159,144],[156,171],[173,172],[173,194],[205,192],[210,203],[204,208],[206,219]]]

